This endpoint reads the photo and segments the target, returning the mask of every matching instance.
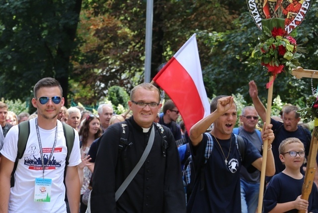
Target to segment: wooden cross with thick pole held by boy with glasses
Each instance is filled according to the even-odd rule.
[[[292,74],[300,79],[302,77],[306,78],[318,78],[318,71],[317,70],[309,70],[303,69],[303,67],[297,67],[297,69],[293,69]],[[305,173],[305,181],[302,188],[302,199],[307,200],[309,199],[309,195],[312,191],[315,173],[316,173],[316,157],[317,157],[317,150],[318,150],[318,118],[315,118],[315,125],[312,134],[312,141],[310,144],[309,155],[308,155],[308,162],[306,167]],[[298,213],[306,213],[306,211],[299,210]]]

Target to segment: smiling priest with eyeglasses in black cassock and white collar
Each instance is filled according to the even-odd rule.
[[[154,85],[134,87],[128,102],[133,115],[110,125],[100,137],[91,213],[185,213],[180,160],[173,135],[167,127],[154,122],[161,107],[159,102],[159,89]],[[119,152],[121,131],[128,134],[128,146]],[[116,191],[152,141],[148,157],[116,202]]]

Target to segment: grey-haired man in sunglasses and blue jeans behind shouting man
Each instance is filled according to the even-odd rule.
[[[253,106],[245,106],[239,115],[241,126],[233,129],[233,133],[248,139],[259,153],[262,152],[260,131],[256,129],[258,114]],[[260,171],[252,173],[242,166],[240,168],[240,196],[242,213],[255,213],[258,204]]]

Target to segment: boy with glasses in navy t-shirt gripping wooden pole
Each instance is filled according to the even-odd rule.
[[[304,163],[305,148],[298,138],[287,138],[279,145],[279,159],[285,169],[273,176],[264,194],[264,213],[298,211],[318,213],[318,192],[313,184],[309,200],[302,199],[304,175],[300,167]]]

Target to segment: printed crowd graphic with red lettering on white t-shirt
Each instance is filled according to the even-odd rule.
[[[29,166],[29,169],[32,170],[41,170],[42,168],[42,160],[41,160],[41,154],[39,150],[38,144],[31,144],[29,146],[28,150],[26,150],[25,153],[27,153],[27,156],[24,157],[24,165]],[[46,165],[45,169],[56,169],[57,167],[61,167],[61,161],[57,161],[55,159],[54,154],[55,153],[61,153],[62,147],[56,147],[54,149],[54,153],[51,157],[51,160],[48,162],[49,157],[51,155],[52,148],[43,148],[43,160],[44,165]]]

